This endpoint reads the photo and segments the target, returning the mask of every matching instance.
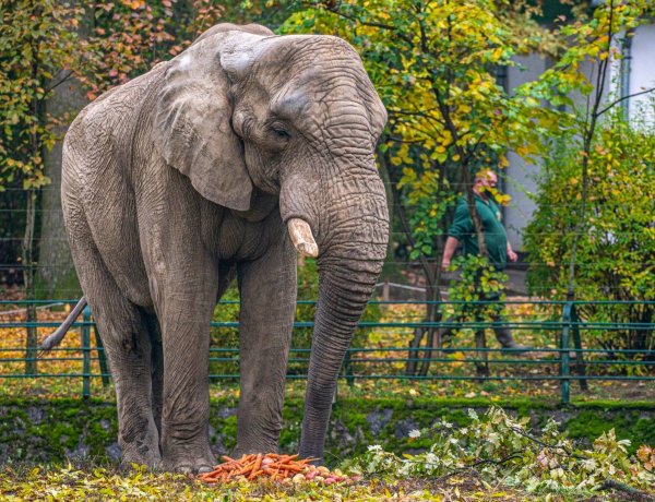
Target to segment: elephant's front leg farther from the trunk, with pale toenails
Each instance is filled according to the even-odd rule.
[[[210,323],[216,270],[207,263],[168,274],[158,298],[164,350],[162,458],[165,470],[202,473],[215,464],[210,450]]]

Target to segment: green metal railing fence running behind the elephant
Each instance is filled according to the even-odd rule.
[[[20,307],[39,309],[74,301],[0,301],[0,379],[66,378],[81,380],[82,395],[91,394],[91,379],[110,379],[102,340],[91,311],[73,324],[69,338],[79,340],[56,348],[38,358],[21,344],[27,330],[47,332],[59,321],[36,321],[7,318],[21,316]],[[237,310],[238,302],[222,302]],[[354,384],[358,380],[407,381],[526,381],[559,382],[561,402],[569,403],[571,384],[579,382],[586,390],[588,382],[655,381],[655,311],[654,301],[505,301],[507,315],[495,321],[458,320],[446,313],[462,302],[443,303],[443,319],[424,319],[422,301],[371,301],[374,321],[362,321],[355,340],[361,346],[350,348],[344,361],[342,378]],[[480,308],[490,302],[473,302]],[[302,315],[312,319],[313,301],[299,301]],[[60,307],[59,307],[60,308]],[[302,316],[301,315],[301,316]],[[364,319],[371,318],[365,315]],[[472,333],[509,327],[523,342],[536,342],[527,354],[519,357],[511,349],[480,347],[473,344]],[[294,325],[289,354],[289,380],[305,379],[309,362],[311,321]],[[458,334],[448,343],[439,334],[446,328]],[[413,345],[417,331],[432,334],[421,345]],[[238,322],[235,319],[212,323],[210,378],[235,380],[238,374]],[[43,339],[45,334],[39,334]],[[487,334],[489,337],[490,335]],[[25,371],[27,361],[38,361],[38,373]],[[52,370],[56,364],[66,370]],[[414,363],[414,364],[413,364]],[[81,370],[71,372],[70,366]],[[420,366],[420,370],[416,368]],[[407,368],[414,367],[415,371]],[[487,368],[480,373],[480,368]]]

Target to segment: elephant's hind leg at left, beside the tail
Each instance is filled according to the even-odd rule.
[[[122,465],[155,467],[162,455],[153,417],[156,396],[152,383],[152,325],[148,326],[147,314],[118,288],[82,211],[75,216],[75,224],[69,225],[69,232],[80,282],[103,338],[116,386]]]

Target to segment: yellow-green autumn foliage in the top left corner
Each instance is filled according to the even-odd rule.
[[[79,11],[55,0],[0,5],[0,191],[39,189],[44,148],[50,148],[53,118],[44,105],[59,70],[71,63]]]

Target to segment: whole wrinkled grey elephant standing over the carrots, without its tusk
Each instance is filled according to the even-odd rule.
[[[80,113],[66,136],[62,204],[116,382],[124,464],[214,464],[210,321],[235,275],[235,455],[277,449],[296,300],[291,217],[319,247],[300,455],[322,459],[337,372],[388,242],[373,160],[385,120],[346,43],[257,25],[214,26]]]

